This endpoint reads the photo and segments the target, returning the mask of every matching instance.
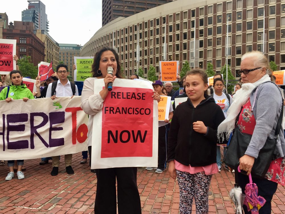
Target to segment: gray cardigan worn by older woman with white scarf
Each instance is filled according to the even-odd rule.
[[[246,155],[254,158],[258,157],[258,153],[264,146],[267,137],[273,139],[277,121],[281,113],[281,107],[283,105],[280,90],[273,82],[265,82],[256,87],[250,95],[251,104],[253,104],[257,88],[257,96],[253,107],[253,115],[256,120],[256,125],[251,142],[245,152]],[[275,151],[279,153],[278,158],[284,157],[285,139],[282,130],[279,132]]]

